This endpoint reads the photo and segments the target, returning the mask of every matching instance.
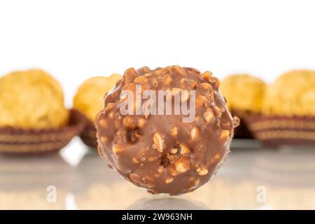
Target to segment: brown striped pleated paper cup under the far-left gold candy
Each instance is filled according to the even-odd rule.
[[[56,115],[57,116],[57,115]],[[0,153],[38,154],[59,151],[85,127],[85,119],[70,111],[69,125],[60,128],[23,129],[0,127]]]

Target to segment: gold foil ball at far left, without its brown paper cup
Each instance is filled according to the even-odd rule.
[[[0,126],[40,129],[68,123],[62,87],[40,69],[0,78]]]

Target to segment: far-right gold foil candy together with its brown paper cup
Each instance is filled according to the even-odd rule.
[[[267,146],[315,145],[315,71],[295,70],[266,89],[262,113],[246,118]]]

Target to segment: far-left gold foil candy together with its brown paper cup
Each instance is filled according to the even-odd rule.
[[[83,116],[64,107],[61,85],[45,71],[0,78],[0,153],[58,151],[83,127]]]

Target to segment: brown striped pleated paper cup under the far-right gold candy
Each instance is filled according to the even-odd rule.
[[[315,146],[315,116],[255,115],[245,121],[265,146]]]

